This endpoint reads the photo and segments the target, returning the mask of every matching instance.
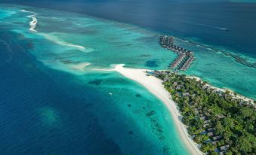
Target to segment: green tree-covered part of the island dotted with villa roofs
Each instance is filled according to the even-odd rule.
[[[209,154],[255,153],[255,101],[199,78],[154,71],[183,116],[193,141]]]

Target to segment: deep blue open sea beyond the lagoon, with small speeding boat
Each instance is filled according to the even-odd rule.
[[[6,2],[2,0],[0,2]],[[8,1],[10,2],[10,1]],[[228,1],[30,1],[20,4],[90,14],[256,57],[256,4]],[[218,29],[228,28],[229,32]]]

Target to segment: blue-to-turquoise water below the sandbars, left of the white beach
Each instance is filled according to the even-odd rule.
[[[117,73],[48,68],[33,38],[0,29],[0,154],[188,154],[145,88]]]

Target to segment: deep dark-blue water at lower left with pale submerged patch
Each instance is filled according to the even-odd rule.
[[[90,111],[110,101],[35,62],[17,35],[1,31],[3,39],[11,47],[0,44],[0,154],[120,154]]]

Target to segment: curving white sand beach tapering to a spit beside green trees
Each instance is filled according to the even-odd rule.
[[[124,68],[124,64],[116,65],[115,70],[124,75],[126,78],[137,81],[137,83],[143,85],[143,87],[146,87],[147,90],[161,99],[165,106],[168,108],[168,111],[170,112],[177,127],[177,132],[179,133],[180,138],[182,138],[184,141],[184,144],[189,152],[191,154],[202,154],[199,148],[196,147],[196,143],[193,142],[192,138],[190,138],[190,135],[188,135],[184,124],[182,124],[179,120],[181,115],[177,110],[177,105],[171,99],[171,95],[168,93],[168,91],[165,90],[160,79],[153,76],[147,76],[145,69]]]

